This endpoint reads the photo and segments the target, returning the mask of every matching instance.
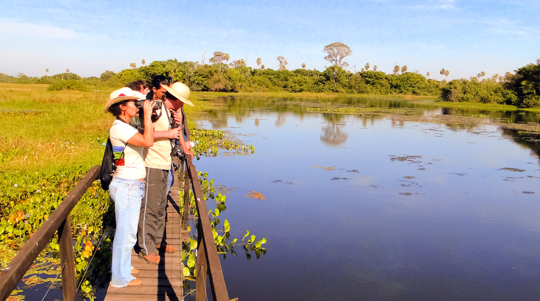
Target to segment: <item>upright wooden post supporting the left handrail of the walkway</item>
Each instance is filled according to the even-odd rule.
[[[64,301],[77,301],[77,278],[75,275],[75,258],[73,258],[73,238],[71,237],[71,221],[68,217],[58,228],[60,237],[60,267],[62,267],[62,293]]]

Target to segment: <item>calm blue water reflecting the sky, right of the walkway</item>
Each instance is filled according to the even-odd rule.
[[[239,300],[537,300],[538,142],[494,125],[449,127],[302,111],[299,100],[215,99],[200,127],[257,149],[195,164],[225,185],[231,236],[267,254],[222,261]],[[321,102],[302,100],[305,102]],[[326,102],[411,114],[536,114],[399,101]],[[321,168],[324,167],[324,168]],[[233,188],[235,188],[233,190]],[[246,198],[249,191],[265,200]]]

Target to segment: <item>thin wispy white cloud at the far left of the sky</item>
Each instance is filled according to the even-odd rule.
[[[2,21],[0,21],[0,33],[14,34],[18,37],[30,36],[55,39],[77,38],[77,33],[71,29],[61,29],[59,27],[30,23],[11,23]]]

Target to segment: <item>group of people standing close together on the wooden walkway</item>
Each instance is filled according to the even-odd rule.
[[[152,264],[159,264],[159,251],[177,251],[165,241],[167,193],[174,180],[171,139],[193,158],[192,144],[186,142],[187,129],[183,126],[183,106],[193,106],[189,95],[190,89],[184,83],[171,83],[164,75],[157,75],[150,84],[139,80],[113,91],[105,104],[105,111],[116,117],[109,129],[116,163],[109,185],[116,211],[112,286],[143,285],[136,278],[139,271],[131,265],[133,247],[141,260]],[[138,116],[138,100],[144,100],[144,116]],[[153,109],[156,102],[162,103],[161,109]],[[139,121],[137,125],[133,125],[134,120]]]

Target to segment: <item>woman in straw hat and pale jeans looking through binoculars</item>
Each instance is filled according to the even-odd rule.
[[[128,87],[111,93],[105,104],[105,111],[112,113],[116,120],[109,129],[116,172],[109,185],[109,193],[114,201],[116,230],[112,243],[111,285],[116,288],[140,288],[143,282],[136,279],[138,270],[131,266],[131,249],[137,241],[139,211],[144,195],[143,149],[154,141],[152,127],[152,107],[154,101],[143,104],[145,130],[140,134],[131,127],[129,120],[137,116],[134,101],[140,100]]]

